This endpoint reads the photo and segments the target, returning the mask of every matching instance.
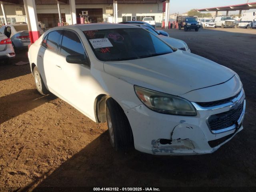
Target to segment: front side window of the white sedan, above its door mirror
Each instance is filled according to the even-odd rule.
[[[78,36],[72,32],[65,30],[63,33],[60,54],[63,56],[80,54],[86,56],[84,46]]]

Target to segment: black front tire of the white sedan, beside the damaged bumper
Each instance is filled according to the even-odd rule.
[[[106,100],[106,119],[112,147],[120,152],[134,148],[132,129],[128,118],[121,106],[112,98]]]

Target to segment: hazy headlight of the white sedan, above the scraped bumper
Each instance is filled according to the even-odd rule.
[[[141,102],[153,111],[164,114],[196,116],[194,106],[188,100],[134,86],[136,95]]]

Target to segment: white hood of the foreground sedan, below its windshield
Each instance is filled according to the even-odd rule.
[[[224,66],[181,50],[137,60],[105,62],[104,70],[131,84],[177,96],[221,84],[235,75]]]

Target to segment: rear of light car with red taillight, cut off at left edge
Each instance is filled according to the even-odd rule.
[[[0,61],[8,63],[13,58],[15,58],[15,52],[12,41],[0,32]]]

